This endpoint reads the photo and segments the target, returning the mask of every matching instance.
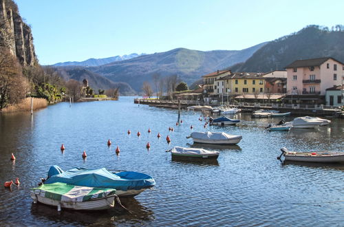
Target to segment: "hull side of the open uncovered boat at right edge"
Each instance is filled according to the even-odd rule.
[[[344,162],[344,155],[284,155],[284,158],[294,162]]]

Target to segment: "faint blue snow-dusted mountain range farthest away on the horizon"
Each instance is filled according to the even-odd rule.
[[[144,54],[125,54],[123,56],[113,56],[113,57],[109,57],[109,58],[89,58],[85,61],[67,61],[64,63],[56,63],[52,66],[70,66],[70,65],[74,65],[74,66],[98,66],[98,65],[105,65],[108,63],[113,63],[114,61],[124,61],[124,60],[128,60],[131,58],[136,58],[137,56],[142,56]]]

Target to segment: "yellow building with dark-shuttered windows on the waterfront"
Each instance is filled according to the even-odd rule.
[[[235,72],[222,77],[224,81],[224,93],[234,94],[258,94],[264,93],[265,78],[255,72]]]

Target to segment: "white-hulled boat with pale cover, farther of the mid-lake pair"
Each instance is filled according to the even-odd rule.
[[[193,138],[193,142],[199,142],[203,144],[237,144],[242,139],[242,136],[230,135],[224,132],[194,131],[186,138]]]

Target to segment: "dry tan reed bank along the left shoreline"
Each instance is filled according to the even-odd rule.
[[[47,107],[47,100],[45,98],[33,98],[34,106],[33,109],[41,109]],[[17,111],[30,111],[31,110],[31,98],[25,98],[23,101],[17,105],[10,105],[6,108],[3,108],[1,112],[10,113]]]

